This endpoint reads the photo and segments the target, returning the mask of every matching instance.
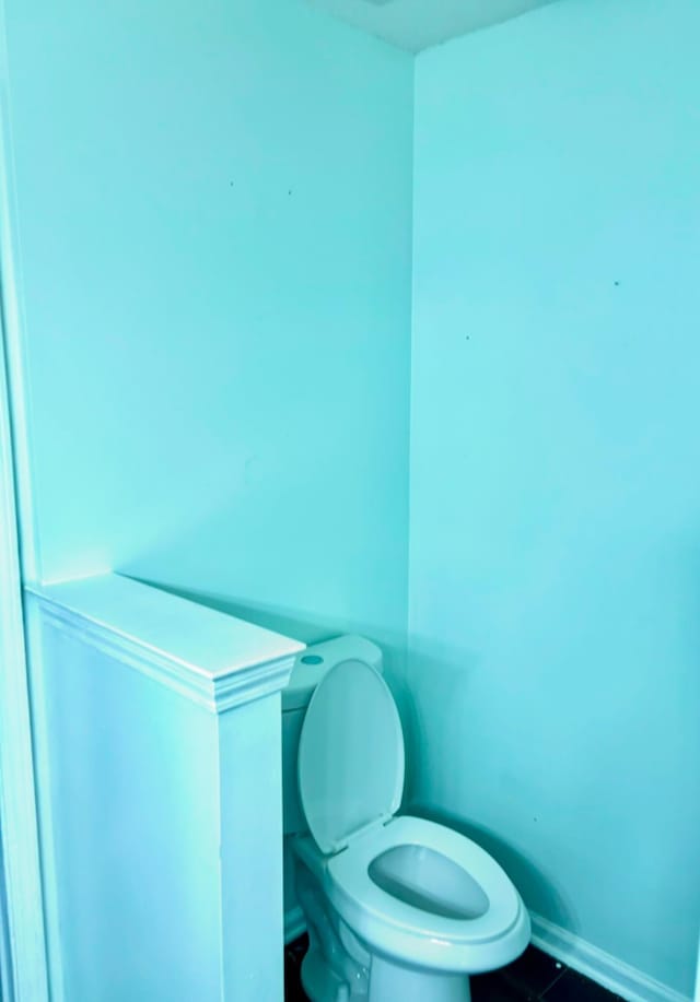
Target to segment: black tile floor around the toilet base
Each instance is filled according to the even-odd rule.
[[[304,1002],[301,963],[306,936],[284,950],[285,1002]],[[489,975],[471,978],[472,1002],[621,1002],[619,995],[571,970],[535,946],[528,946],[514,964]]]

